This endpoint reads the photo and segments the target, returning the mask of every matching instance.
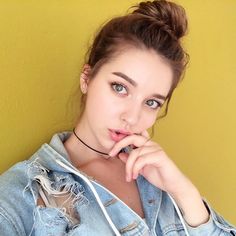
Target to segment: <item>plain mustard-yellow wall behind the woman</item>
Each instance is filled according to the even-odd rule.
[[[0,0],[0,172],[71,129],[68,101],[88,40],[134,2]],[[236,224],[236,1],[178,2],[189,16],[191,62],[155,138]]]

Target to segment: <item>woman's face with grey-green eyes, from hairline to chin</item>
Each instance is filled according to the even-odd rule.
[[[129,134],[150,128],[172,84],[170,66],[153,50],[128,48],[104,64],[87,83],[79,132],[109,151]]]

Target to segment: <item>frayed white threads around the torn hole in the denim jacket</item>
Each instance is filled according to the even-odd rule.
[[[54,176],[54,178],[56,180],[51,181],[48,177],[49,170],[47,168],[45,168],[38,161],[39,158],[40,158],[39,156],[36,157],[35,160],[32,161],[29,164],[29,167],[27,168],[27,176],[29,178],[29,182],[23,190],[23,196],[25,197],[26,191],[29,190],[33,196],[33,199],[34,199],[34,202],[36,205],[37,205],[38,194],[39,194],[40,190],[41,191],[45,190],[45,192],[49,195],[49,197],[51,196],[50,199],[52,199],[52,197],[54,197],[54,198],[65,197],[66,198],[65,201],[62,202],[62,204],[60,204],[60,206],[58,206],[57,204],[55,204],[55,205],[53,204],[51,206],[50,206],[50,204],[47,204],[47,205],[48,205],[48,207],[52,207],[55,210],[59,211],[64,216],[64,219],[68,223],[70,223],[72,225],[78,224],[79,223],[79,215],[75,210],[75,204],[76,204],[76,202],[79,202],[79,201],[88,203],[88,200],[85,198],[85,196],[83,196],[84,190],[81,191],[81,187],[78,186],[78,184],[76,182],[65,183],[65,185],[59,186],[56,188],[53,187],[53,184],[55,182],[59,182],[61,180],[61,178],[60,178],[60,176],[56,175],[56,176]],[[32,185],[33,181],[35,181],[35,183],[37,183],[37,186]],[[76,194],[75,194],[75,192],[76,192]],[[68,202],[69,202],[69,205],[66,208],[65,205]],[[39,208],[36,207],[35,210],[38,213],[39,220],[40,220],[41,224],[49,226],[47,224],[47,222],[44,222],[42,220]],[[36,212],[34,211],[34,217],[33,217],[34,224],[31,229],[30,235],[32,235],[33,230],[36,225],[36,222],[35,222]],[[75,217],[73,217],[73,216],[75,216]]]

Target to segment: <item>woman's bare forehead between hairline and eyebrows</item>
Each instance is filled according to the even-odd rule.
[[[172,84],[171,66],[154,50],[126,48],[101,68],[103,72],[121,72],[137,87],[166,96]]]

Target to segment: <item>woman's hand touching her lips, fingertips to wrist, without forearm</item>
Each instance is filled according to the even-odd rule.
[[[119,153],[128,146],[134,145],[130,154]],[[126,180],[136,179],[143,175],[150,183],[171,194],[177,194],[189,180],[166,155],[159,144],[150,140],[148,132],[141,135],[130,135],[115,144],[110,156],[116,156],[126,163]]]

